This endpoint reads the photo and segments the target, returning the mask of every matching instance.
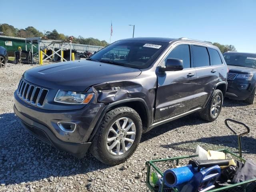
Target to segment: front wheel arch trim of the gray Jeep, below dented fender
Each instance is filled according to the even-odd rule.
[[[124,99],[124,100],[119,100],[119,101],[112,102],[112,103],[108,104],[106,106],[106,108],[104,109],[104,111],[100,114],[100,118],[98,119],[96,126],[94,127],[94,130],[93,130],[92,134],[90,135],[90,138],[88,139],[88,142],[92,141],[105,114],[107,112],[109,112],[110,110],[117,108],[117,107],[121,107],[121,106],[127,106],[127,107],[130,107],[130,108],[133,108],[134,110],[136,110],[136,112],[139,114],[141,121],[142,121],[142,129],[143,129],[142,132],[144,132],[148,128],[148,126],[150,126],[150,119],[151,119],[150,112],[149,112],[148,106],[144,99],[128,98],[128,99]]]

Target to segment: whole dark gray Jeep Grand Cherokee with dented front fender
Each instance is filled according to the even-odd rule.
[[[114,55],[114,57],[113,57]],[[187,38],[119,40],[87,60],[27,70],[14,112],[31,134],[82,158],[120,164],[142,133],[188,114],[214,121],[227,88],[225,60]]]

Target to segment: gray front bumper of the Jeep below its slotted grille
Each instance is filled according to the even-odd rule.
[[[88,104],[79,110],[45,110],[21,100],[14,93],[14,112],[22,126],[40,140],[59,150],[67,151],[78,158],[84,157],[90,147],[90,137],[104,104]],[[74,132],[65,132],[58,122],[74,122]]]

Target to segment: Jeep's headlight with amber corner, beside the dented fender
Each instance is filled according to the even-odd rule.
[[[54,101],[66,104],[87,104],[93,96],[93,93],[58,90]]]

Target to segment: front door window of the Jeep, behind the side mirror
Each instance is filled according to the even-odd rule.
[[[176,46],[166,57],[165,62],[168,58],[180,59],[183,61],[183,68],[190,68],[190,50],[188,45]]]

